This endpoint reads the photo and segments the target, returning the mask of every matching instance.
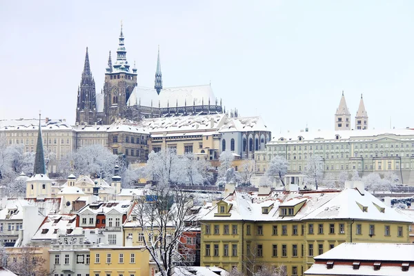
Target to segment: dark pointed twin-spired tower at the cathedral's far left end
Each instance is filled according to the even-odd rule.
[[[95,121],[97,121],[95,80],[90,72],[88,47],[86,47],[81,86],[78,87],[77,94],[76,122],[87,125],[94,124]]]

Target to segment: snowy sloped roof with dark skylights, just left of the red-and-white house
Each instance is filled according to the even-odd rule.
[[[76,215],[49,215],[32,239],[57,239],[59,234],[70,233],[76,228]]]

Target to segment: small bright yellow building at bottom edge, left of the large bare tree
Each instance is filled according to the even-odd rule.
[[[148,276],[149,253],[142,246],[90,248],[90,273],[94,276]]]

